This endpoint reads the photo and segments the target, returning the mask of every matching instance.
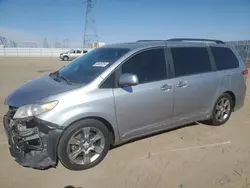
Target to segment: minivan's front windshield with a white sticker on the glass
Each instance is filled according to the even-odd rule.
[[[87,84],[127,53],[125,48],[96,48],[59,70],[59,75],[73,83]]]

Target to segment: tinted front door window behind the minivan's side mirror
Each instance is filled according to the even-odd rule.
[[[136,74],[139,83],[166,79],[164,49],[152,49],[136,54],[122,65],[122,73]]]

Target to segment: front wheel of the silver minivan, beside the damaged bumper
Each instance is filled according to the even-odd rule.
[[[87,139],[86,139],[85,133],[88,132],[86,131],[88,129],[89,129],[89,142],[88,143],[90,144],[89,145],[87,144],[88,149],[86,149],[87,146],[85,147],[85,144],[87,143],[86,141]],[[98,132],[97,130],[100,131],[101,133]],[[95,136],[91,137],[91,134],[94,135],[95,131],[98,132],[98,134],[96,133],[96,135],[99,135],[99,136],[95,135],[96,137]],[[81,136],[79,135],[83,137],[83,140],[81,140],[80,138]],[[93,138],[102,137],[102,136],[104,138],[104,141],[101,138],[100,140],[97,140],[95,143],[92,143],[92,146],[91,146],[91,140],[94,140]],[[71,144],[72,142],[76,143],[75,140],[77,140],[77,144],[76,145]],[[99,143],[100,143],[100,146],[98,145]],[[111,133],[102,122],[96,119],[80,120],[70,125],[70,127],[66,129],[65,132],[63,133],[59,141],[58,148],[57,148],[58,158],[61,161],[61,163],[70,170],[79,171],[79,170],[89,169],[99,164],[105,158],[105,156],[107,155],[109,151],[110,143],[111,143]],[[96,149],[90,149],[92,147]],[[82,153],[78,154],[78,156],[75,159],[73,159],[75,157],[74,153],[79,153],[80,150],[84,150],[84,151],[82,151]],[[89,152],[87,152],[86,150],[88,150]],[[95,150],[97,151],[99,150],[98,153],[95,152]],[[89,154],[86,154],[85,152]],[[96,158],[97,155],[99,156]],[[85,157],[86,157],[86,160],[85,160]],[[87,158],[89,158],[89,160],[87,160]],[[87,162],[85,163],[83,159]],[[94,160],[91,161],[92,159]]]

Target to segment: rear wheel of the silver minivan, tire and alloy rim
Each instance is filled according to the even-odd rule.
[[[232,97],[224,93],[216,101],[212,116],[206,123],[210,125],[222,125],[228,121],[231,116],[233,109],[233,100]]]

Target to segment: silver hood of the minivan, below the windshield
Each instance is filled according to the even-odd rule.
[[[7,97],[5,102],[9,106],[20,107],[26,104],[41,102],[51,95],[60,94],[75,88],[77,88],[75,85],[57,82],[46,74],[22,84]]]

